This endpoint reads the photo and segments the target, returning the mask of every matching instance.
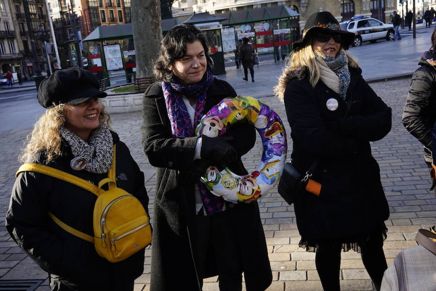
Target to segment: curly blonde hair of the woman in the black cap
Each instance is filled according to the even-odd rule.
[[[109,113],[106,112],[101,101],[99,103],[101,105],[99,121],[109,126]],[[65,104],[55,105],[41,115],[33,126],[32,132],[27,136],[18,161],[34,162],[36,154],[41,151],[46,153],[46,162],[51,162],[62,154],[60,129],[65,124],[66,108]]]

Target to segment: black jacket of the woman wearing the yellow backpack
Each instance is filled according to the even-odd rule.
[[[148,213],[148,196],[144,187],[144,174],[133,160],[125,144],[112,132],[116,144],[117,186],[137,197]],[[53,162],[45,162],[41,152],[35,162],[88,180],[95,185],[108,174],[75,171],[70,167],[73,159],[67,144],[62,146],[62,156]],[[65,224],[93,236],[93,209],[97,199],[93,193],[76,185],[39,173],[22,172],[12,190],[11,203],[6,214],[6,228],[18,245],[42,269],[49,274],[59,275],[79,285],[83,290],[87,284],[102,287],[113,278],[123,281],[134,280],[142,275],[144,250],[131,257],[111,263],[98,256],[92,242],[84,241],[48,217],[53,213]]]

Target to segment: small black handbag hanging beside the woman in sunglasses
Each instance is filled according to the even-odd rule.
[[[312,163],[306,175],[303,176],[290,162],[286,162],[279,181],[279,194],[289,204],[300,204],[309,178],[318,165],[319,159]]]

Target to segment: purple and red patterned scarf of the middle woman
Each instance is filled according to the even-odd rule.
[[[206,69],[202,80],[197,84],[191,86],[184,86],[174,78],[171,83],[162,82],[162,91],[167,105],[168,117],[171,123],[171,133],[173,137],[185,138],[192,137],[195,134],[195,128],[200,123],[204,114],[204,104],[206,102],[206,91],[210,84],[214,81],[214,76],[209,69]],[[191,119],[185,102],[183,102],[182,95],[189,97],[196,97],[197,103],[195,105],[194,126],[191,125]],[[222,211],[224,206],[224,199],[210,193],[206,186],[198,182],[200,194],[202,197],[204,211],[207,215],[212,215]]]

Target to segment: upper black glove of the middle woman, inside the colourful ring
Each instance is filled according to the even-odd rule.
[[[234,162],[238,158],[236,149],[229,144],[233,140],[232,136],[217,136],[208,137],[202,135],[202,148],[200,155],[202,159],[207,159],[211,165],[217,166],[221,171],[229,163]]]

